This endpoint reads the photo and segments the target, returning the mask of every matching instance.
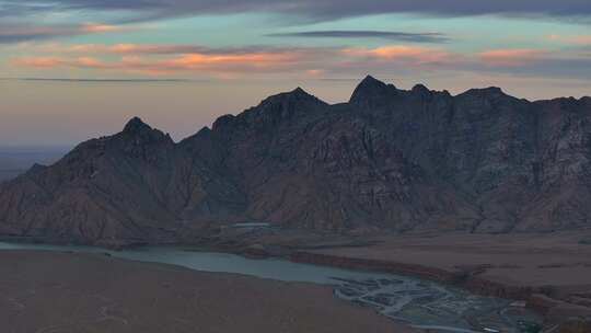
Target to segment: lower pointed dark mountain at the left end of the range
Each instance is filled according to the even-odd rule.
[[[243,195],[139,118],[112,137],[78,146],[0,190],[0,219],[13,234],[97,242],[166,240],[188,219],[241,211]]]

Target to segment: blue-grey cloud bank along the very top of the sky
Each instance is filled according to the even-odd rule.
[[[131,20],[211,13],[276,12],[310,20],[369,14],[552,16],[589,22],[589,0],[0,0],[0,18],[67,10],[131,11]]]

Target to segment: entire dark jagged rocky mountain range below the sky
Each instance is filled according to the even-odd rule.
[[[452,96],[366,78],[348,103],[301,89],[175,143],[135,118],[0,187],[0,231],[174,240],[202,222],[315,230],[591,227],[591,99]]]

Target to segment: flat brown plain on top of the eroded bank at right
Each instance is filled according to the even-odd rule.
[[[310,252],[419,264],[450,272],[484,267],[480,276],[514,286],[580,287],[591,291],[589,232],[379,237],[375,245]]]

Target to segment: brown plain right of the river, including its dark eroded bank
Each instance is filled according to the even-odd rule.
[[[382,236],[361,246],[316,243],[297,261],[422,276],[524,300],[548,322],[591,317],[591,231],[545,234]],[[345,244],[345,243],[344,243]]]

